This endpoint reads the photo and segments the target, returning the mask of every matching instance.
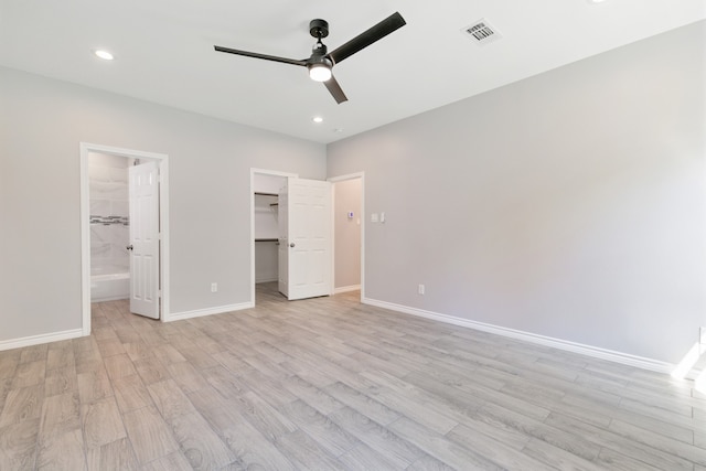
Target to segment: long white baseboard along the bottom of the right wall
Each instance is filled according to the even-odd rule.
[[[585,345],[581,343],[569,342],[566,340],[537,335],[530,332],[522,332],[522,331],[507,329],[499,325],[475,322],[468,319],[457,318],[453,315],[440,314],[438,312],[425,311],[421,309],[409,308],[406,306],[395,304],[386,301],[378,301],[376,299],[362,298],[361,302],[363,304],[370,304],[378,308],[389,309],[392,311],[402,312],[405,314],[427,318],[435,321],[445,322],[448,324],[460,325],[463,328],[469,328],[469,329],[473,329],[482,332],[503,335],[511,339],[522,340],[524,342],[535,343],[544,346],[550,346],[553,349],[578,353],[578,354],[591,356],[595,358],[608,360],[610,362],[616,362],[623,365],[634,366],[638,368],[649,370],[657,373],[671,374],[676,367],[676,365],[661,362],[657,360],[630,355],[628,353],[616,352],[612,350],[600,349],[598,346]]]

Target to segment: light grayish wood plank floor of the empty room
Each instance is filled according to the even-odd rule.
[[[688,382],[357,293],[0,352],[1,470],[706,470]]]

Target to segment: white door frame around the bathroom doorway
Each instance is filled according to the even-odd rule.
[[[160,320],[169,321],[169,156],[81,142],[81,279],[82,279],[82,330],[90,335],[90,191],[88,174],[88,154],[107,153],[135,159],[152,159],[159,163],[160,171],[160,280],[161,303]]]

